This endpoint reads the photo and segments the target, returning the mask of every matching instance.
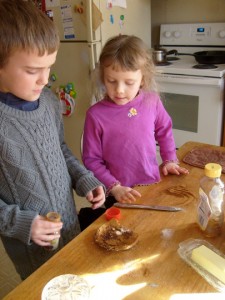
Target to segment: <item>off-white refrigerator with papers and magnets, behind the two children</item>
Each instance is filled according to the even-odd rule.
[[[61,39],[51,88],[74,84],[75,108],[64,116],[65,139],[81,160],[85,113],[93,101],[91,72],[101,48],[117,34],[137,35],[151,47],[151,0],[46,0],[45,4]]]

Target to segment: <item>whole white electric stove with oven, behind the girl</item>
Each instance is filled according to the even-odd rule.
[[[225,23],[161,25],[160,46],[178,54],[224,51]],[[173,121],[177,148],[187,141],[222,142],[225,63],[198,67],[193,55],[168,55],[166,65],[156,65],[156,81]]]

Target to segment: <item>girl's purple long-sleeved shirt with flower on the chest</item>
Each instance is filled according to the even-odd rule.
[[[176,160],[172,121],[156,93],[140,91],[125,105],[103,99],[86,114],[83,162],[107,188],[160,180],[156,141],[163,161]]]

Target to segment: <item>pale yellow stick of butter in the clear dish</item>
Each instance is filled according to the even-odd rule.
[[[202,245],[192,251],[191,259],[225,283],[225,259]]]

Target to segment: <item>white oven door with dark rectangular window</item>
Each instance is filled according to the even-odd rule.
[[[223,78],[158,74],[156,81],[177,148],[188,141],[221,145]]]

